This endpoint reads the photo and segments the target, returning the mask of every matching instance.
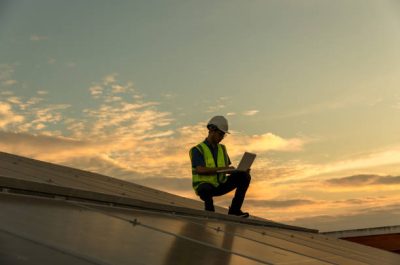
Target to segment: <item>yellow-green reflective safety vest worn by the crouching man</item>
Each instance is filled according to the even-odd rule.
[[[206,167],[215,168],[215,167],[227,167],[228,166],[228,154],[226,152],[226,147],[222,144],[218,144],[218,155],[217,155],[217,164],[215,164],[214,157],[211,153],[210,148],[204,143],[200,143],[195,147],[190,149],[190,159],[192,160],[192,152],[194,148],[197,148],[200,153],[203,155],[204,161],[206,163]],[[225,183],[228,177],[226,174],[218,173],[215,175],[200,175],[197,174],[196,168],[192,167],[192,186],[197,194],[197,188],[202,183],[210,183],[214,187],[218,187],[219,184]]]

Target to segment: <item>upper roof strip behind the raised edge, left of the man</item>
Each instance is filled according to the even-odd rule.
[[[58,187],[93,191],[166,205],[203,209],[199,201],[147,188],[131,182],[71,167],[29,159],[0,152],[0,172],[3,177],[28,180]],[[218,210],[222,210],[219,208]]]

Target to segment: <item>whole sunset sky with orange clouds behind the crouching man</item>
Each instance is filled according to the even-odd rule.
[[[198,200],[224,115],[233,164],[257,153],[243,210],[400,225],[398,47],[398,0],[0,0],[0,151]]]

